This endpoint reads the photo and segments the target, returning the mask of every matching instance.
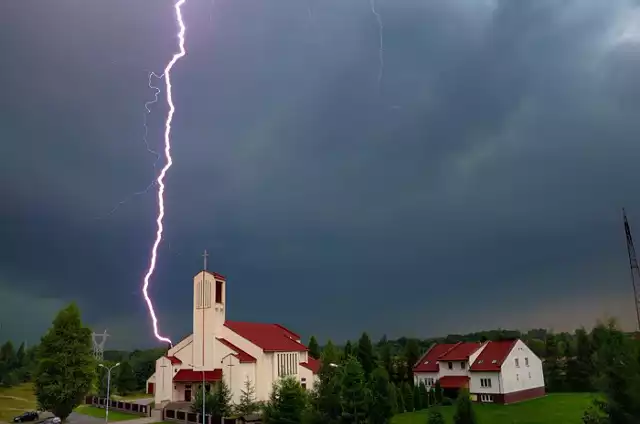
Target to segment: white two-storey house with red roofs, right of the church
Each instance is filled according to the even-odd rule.
[[[545,395],[542,361],[522,340],[433,345],[413,369],[445,394],[466,388],[478,402],[514,403]]]

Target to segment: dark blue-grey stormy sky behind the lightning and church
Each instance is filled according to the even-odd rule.
[[[151,293],[190,332],[192,276],[227,317],[337,341],[634,326],[640,5],[631,0],[188,0]],[[148,73],[165,0],[0,2],[0,339],[79,303],[153,345]],[[147,115],[162,148],[163,88]],[[110,212],[124,202],[115,212]]]

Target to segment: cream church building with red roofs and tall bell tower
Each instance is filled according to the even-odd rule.
[[[267,400],[273,383],[293,376],[313,388],[320,363],[308,355],[300,336],[279,324],[228,321],[226,279],[201,271],[193,278],[193,334],[171,347],[156,361],[147,391],[157,406],[191,402],[196,390],[224,380],[237,403],[245,381],[257,400]]]

